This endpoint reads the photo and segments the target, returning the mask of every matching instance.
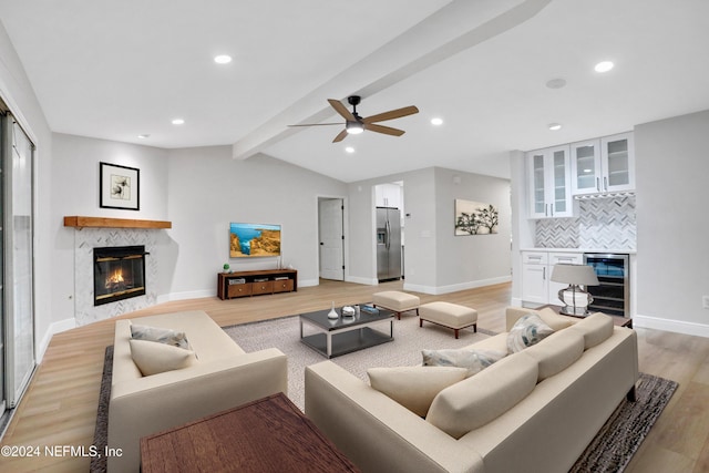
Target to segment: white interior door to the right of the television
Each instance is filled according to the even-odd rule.
[[[341,198],[318,203],[320,234],[320,277],[345,280],[343,203]]]

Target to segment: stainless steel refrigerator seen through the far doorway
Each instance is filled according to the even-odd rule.
[[[401,279],[401,219],[398,208],[377,207],[377,278]]]

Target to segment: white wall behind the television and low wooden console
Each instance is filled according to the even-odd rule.
[[[230,146],[168,152],[174,271],[169,298],[216,295],[217,273],[275,268],[277,258],[229,259],[229,223],[281,225],[282,263],[298,284],[318,284],[318,196],[347,186],[266,155],[233,160]]]

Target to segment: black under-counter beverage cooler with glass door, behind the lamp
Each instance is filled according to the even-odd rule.
[[[630,265],[628,255],[587,253],[584,264],[592,266],[598,277],[598,286],[586,290],[594,298],[590,312],[630,317]]]

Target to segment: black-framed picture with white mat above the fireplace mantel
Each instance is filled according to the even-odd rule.
[[[99,163],[101,208],[141,209],[141,169]]]

